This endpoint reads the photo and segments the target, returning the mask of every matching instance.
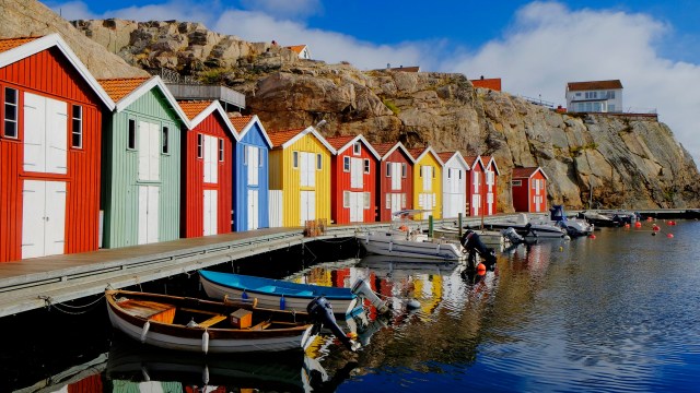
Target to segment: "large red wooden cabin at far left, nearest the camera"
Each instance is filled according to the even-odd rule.
[[[0,262],[96,250],[102,111],[58,34],[0,39]]]

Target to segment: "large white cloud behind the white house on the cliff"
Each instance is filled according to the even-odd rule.
[[[474,79],[502,78],[503,88],[565,105],[567,82],[619,79],[625,109],[656,108],[676,139],[700,159],[695,114],[700,67],[664,59],[655,47],[670,28],[650,15],[571,11],[557,2],[522,8],[501,39],[444,67]],[[445,62],[446,63],[446,62]]]

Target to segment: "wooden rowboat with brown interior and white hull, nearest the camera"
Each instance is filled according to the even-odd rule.
[[[168,295],[106,290],[113,326],[161,348],[195,353],[303,350],[318,326],[292,312]]]

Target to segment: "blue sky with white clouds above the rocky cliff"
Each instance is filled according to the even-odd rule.
[[[67,20],[201,22],[248,41],[308,46],[360,70],[419,66],[565,106],[568,82],[620,80],[626,111],[656,111],[700,163],[697,0],[45,1]],[[699,119],[696,119],[696,116]]]

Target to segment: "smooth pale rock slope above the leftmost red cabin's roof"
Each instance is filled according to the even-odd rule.
[[[95,78],[143,76],[142,69],[79,33],[68,21],[35,0],[0,0],[0,37],[31,37],[59,33]]]

